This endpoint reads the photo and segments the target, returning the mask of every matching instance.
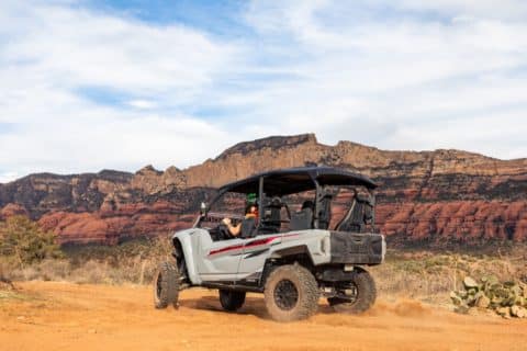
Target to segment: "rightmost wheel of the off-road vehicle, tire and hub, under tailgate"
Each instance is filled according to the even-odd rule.
[[[361,314],[368,310],[377,298],[373,278],[367,271],[356,268],[351,281],[340,282],[335,286],[337,297],[327,302],[338,313]]]

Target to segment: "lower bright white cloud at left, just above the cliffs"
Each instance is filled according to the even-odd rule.
[[[74,117],[44,114],[20,133],[1,136],[2,166],[15,166],[18,174],[134,171],[149,163],[166,169],[193,165],[229,146],[224,132],[190,116],[125,113],[83,101],[68,106]]]

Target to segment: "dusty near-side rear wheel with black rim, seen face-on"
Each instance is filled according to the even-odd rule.
[[[277,268],[265,286],[267,312],[278,321],[305,319],[318,308],[318,284],[309,270],[298,264]]]

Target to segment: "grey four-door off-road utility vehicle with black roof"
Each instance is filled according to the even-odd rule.
[[[367,177],[327,167],[274,170],[222,186],[193,227],[172,236],[175,261],[155,275],[155,306],[176,305],[179,291],[202,286],[217,288],[229,312],[247,292],[264,293],[269,315],[281,321],[315,314],[321,296],[337,312],[367,310],[377,293],[363,267],[382,263],[385,253],[374,229],[374,188]],[[348,195],[337,196],[346,189]],[[257,199],[258,217],[225,213],[245,205],[248,194]],[[347,199],[338,223],[332,218],[337,197]],[[294,201],[304,204],[294,208]],[[242,224],[238,236],[225,217]]]

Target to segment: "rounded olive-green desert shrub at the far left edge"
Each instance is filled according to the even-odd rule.
[[[0,254],[21,267],[63,256],[55,234],[42,230],[25,216],[12,216],[0,224]]]

